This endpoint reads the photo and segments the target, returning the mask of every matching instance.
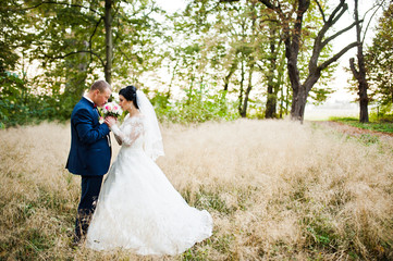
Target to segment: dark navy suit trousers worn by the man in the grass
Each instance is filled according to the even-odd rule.
[[[81,201],[75,221],[75,241],[79,241],[87,233],[91,215],[96,209],[103,176],[82,176]]]

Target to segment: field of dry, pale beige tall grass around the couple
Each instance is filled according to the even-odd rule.
[[[182,256],[153,259],[393,259],[391,141],[286,121],[169,125],[163,138],[158,164],[213,215],[214,232]],[[151,260],[69,247],[79,192],[64,170],[69,125],[1,130],[0,139],[0,259]]]

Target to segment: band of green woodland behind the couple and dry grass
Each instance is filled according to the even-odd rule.
[[[321,104],[337,89],[337,61],[359,46],[368,97],[356,95],[357,80],[346,88],[390,114],[391,8],[376,1],[355,10],[354,2],[188,1],[167,13],[153,1],[5,1],[1,127],[67,120],[98,78],[114,91],[143,89],[161,121],[303,121],[307,103]],[[341,27],[343,20],[349,24]]]

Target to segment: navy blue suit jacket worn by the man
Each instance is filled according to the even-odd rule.
[[[94,104],[82,98],[71,114],[71,149],[65,169],[83,176],[105,175],[111,161],[107,124],[99,123]]]

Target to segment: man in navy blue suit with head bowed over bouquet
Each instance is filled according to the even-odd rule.
[[[71,149],[65,169],[82,176],[82,194],[75,221],[74,244],[86,234],[111,160],[109,127],[99,123],[97,107],[111,96],[111,86],[95,82],[71,114]]]

